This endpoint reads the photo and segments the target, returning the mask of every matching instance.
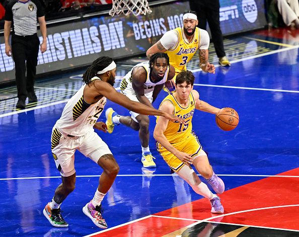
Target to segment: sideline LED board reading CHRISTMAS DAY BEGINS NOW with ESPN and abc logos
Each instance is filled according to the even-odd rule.
[[[220,1],[223,35],[261,28],[266,25],[263,1]],[[146,16],[97,16],[81,22],[47,27],[45,53],[38,55],[37,74],[88,65],[99,56],[113,59],[144,53],[168,30],[182,26],[188,2],[152,7]],[[41,39],[41,37],[40,37]],[[15,65],[5,53],[0,37],[0,84],[15,80]]]

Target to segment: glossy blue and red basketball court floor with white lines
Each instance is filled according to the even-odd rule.
[[[189,63],[200,98],[216,107],[232,107],[238,127],[220,130],[214,115],[196,111],[193,130],[209,153],[216,174],[226,184],[219,195],[225,213],[211,214],[208,200],[169,168],[155,149],[151,116],[150,148],[156,169],[144,169],[137,132],[119,125],[99,132],[120,172],[104,201],[108,229],[101,230],[82,212],[102,173],[76,153],[76,189],[61,205],[67,228],[50,225],[42,211],[60,176],[50,150],[52,126],[66,101],[81,86],[84,70],[36,82],[37,104],[15,110],[16,88],[0,90],[0,235],[1,236],[299,236],[299,31],[260,30],[225,39],[229,68],[215,74]],[[118,62],[120,79],[144,58]],[[154,106],[166,96],[161,92]],[[107,102],[121,115],[128,111]],[[104,114],[99,121],[105,121]],[[200,177],[202,179],[202,177]],[[205,182],[202,179],[203,182]]]

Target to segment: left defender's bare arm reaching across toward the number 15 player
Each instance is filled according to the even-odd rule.
[[[98,80],[97,80],[98,81]],[[110,84],[98,81],[95,83],[95,88],[100,93],[100,95],[106,97],[108,100],[111,100],[112,102],[119,104],[126,109],[133,111],[138,114],[144,114],[144,115],[159,115],[163,116],[168,120],[171,121],[178,121],[180,123],[186,124],[186,122],[172,114],[168,114],[165,111],[156,110],[155,108],[143,105],[139,102],[131,101],[128,97],[125,95],[117,92]]]

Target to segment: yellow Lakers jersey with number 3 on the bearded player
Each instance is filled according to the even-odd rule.
[[[179,42],[175,49],[169,49],[165,53],[169,56],[170,65],[172,65],[176,74],[181,70],[186,70],[186,63],[191,60],[200,42],[199,28],[195,28],[193,39],[188,43],[183,37],[183,28],[174,29],[179,35]]]

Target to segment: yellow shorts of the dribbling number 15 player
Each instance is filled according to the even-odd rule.
[[[190,154],[193,159],[200,155],[206,155],[201,148],[201,144],[199,143],[199,140],[194,132],[191,132],[191,134],[185,140],[172,143],[172,145],[179,151]],[[159,142],[157,142],[157,150],[170,169],[172,169],[174,172],[178,172],[183,167],[184,163],[173,153],[163,147]]]

